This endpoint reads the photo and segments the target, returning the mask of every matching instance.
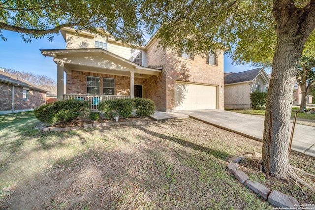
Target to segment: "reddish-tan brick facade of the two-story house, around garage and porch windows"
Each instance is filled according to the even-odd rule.
[[[134,84],[143,86],[143,97],[152,99],[156,109],[174,111],[175,81],[215,86],[217,89],[217,108],[224,109],[223,96],[223,52],[219,54],[218,65],[209,65],[206,58],[194,56],[194,60],[183,59],[170,50],[158,47],[153,40],[147,47],[147,66],[161,67],[158,76],[147,79],[135,77]],[[91,73],[72,70],[66,75],[66,94],[87,94],[87,76],[100,77],[100,92],[103,94],[103,78],[115,79],[115,95],[130,95],[130,77],[110,74]]]

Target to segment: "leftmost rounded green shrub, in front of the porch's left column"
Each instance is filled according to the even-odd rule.
[[[34,110],[35,117],[47,124],[56,124],[74,120],[81,112],[89,109],[87,101],[61,100],[42,105]]]

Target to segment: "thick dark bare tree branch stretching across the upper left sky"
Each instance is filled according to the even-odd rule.
[[[58,33],[58,31],[64,27],[73,27],[73,26],[78,26],[78,25],[79,23],[66,23],[66,24],[61,24],[59,26],[56,26],[53,29],[38,30],[38,29],[26,29],[26,28],[17,27],[17,26],[11,26],[11,25],[0,22],[0,29],[15,31],[19,33],[43,35],[43,34],[48,34],[48,33]]]

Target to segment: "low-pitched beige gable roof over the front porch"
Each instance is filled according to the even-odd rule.
[[[63,64],[64,70],[68,74],[71,74],[72,70],[76,70],[130,76],[130,71],[134,71],[135,77],[148,78],[152,75],[159,75],[161,72],[160,69],[137,65],[99,48],[41,50],[41,53],[44,56],[53,57],[57,64]]]

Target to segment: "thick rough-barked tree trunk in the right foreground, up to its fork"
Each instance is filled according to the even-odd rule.
[[[267,169],[270,155],[269,173],[281,180],[295,177],[288,158],[293,87],[304,44],[315,28],[313,22],[312,26],[308,25],[311,21],[310,16],[297,9],[292,2],[274,0],[273,16],[277,23],[277,46],[267,93],[262,148],[263,170]],[[269,147],[270,127],[272,135]]]

